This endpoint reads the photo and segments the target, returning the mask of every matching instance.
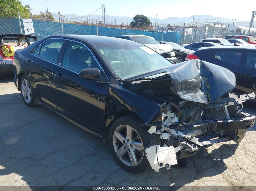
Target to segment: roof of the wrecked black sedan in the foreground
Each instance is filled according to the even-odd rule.
[[[125,40],[125,39],[114,38],[114,37],[96,36],[96,35],[67,34],[67,35],[50,35],[50,37],[71,38],[74,40],[86,41],[91,44],[140,44],[131,40]]]

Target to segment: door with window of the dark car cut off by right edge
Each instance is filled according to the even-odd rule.
[[[246,52],[240,69],[241,83],[237,89],[256,93],[256,51]]]

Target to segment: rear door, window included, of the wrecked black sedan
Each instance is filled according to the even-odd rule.
[[[56,108],[55,72],[64,42],[63,39],[48,39],[26,57],[35,93],[42,103],[52,109]]]

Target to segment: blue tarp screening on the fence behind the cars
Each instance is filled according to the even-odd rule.
[[[21,21],[22,24],[22,21]],[[51,34],[62,34],[61,23],[50,21],[33,20],[35,35],[38,39],[46,37]],[[67,24],[63,23],[64,34],[87,34],[96,35],[97,26],[81,25],[81,24]],[[15,18],[1,18],[0,17],[0,33],[20,33],[18,19]],[[24,32],[22,24],[22,33]],[[127,34],[142,34],[142,30],[128,30],[118,28],[98,27],[98,35],[106,37],[115,37],[118,35]],[[179,43],[180,33],[178,32],[160,32],[160,31],[143,31],[144,35],[154,37],[158,41],[169,41]]]

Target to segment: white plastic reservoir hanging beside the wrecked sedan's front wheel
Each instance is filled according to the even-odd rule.
[[[160,145],[153,145],[146,148],[145,152],[152,169],[159,172],[160,163],[163,164],[162,167],[167,167],[168,170],[170,169],[171,165],[178,164],[175,152],[178,152],[182,148],[182,146],[174,148],[173,146],[160,147]]]

